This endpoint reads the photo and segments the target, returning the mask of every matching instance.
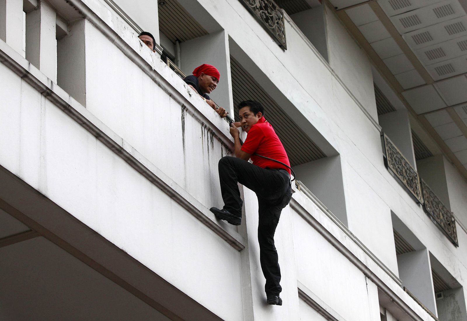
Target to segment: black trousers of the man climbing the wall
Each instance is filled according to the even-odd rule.
[[[251,189],[258,197],[258,241],[260,245],[260,263],[266,285],[266,295],[279,295],[282,287],[281,270],[274,246],[274,233],[282,209],[287,206],[292,196],[290,175],[284,169],[261,168],[231,156],[219,161],[220,190],[224,200],[224,209],[241,217],[240,191],[237,182]]]

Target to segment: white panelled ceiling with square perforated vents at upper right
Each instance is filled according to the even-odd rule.
[[[436,112],[453,106],[467,125],[467,0],[378,0],[402,37],[397,41],[367,1],[330,1],[337,10],[345,9],[402,86],[402,95],[412,109],[425,115],[467,168],[467,138],[448,112]],[[434,84],[427,84],[420,74],[423,70],[410,62],[398,41],[407,43]]]

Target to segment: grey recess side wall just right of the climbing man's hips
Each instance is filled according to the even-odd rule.
[[[300,181],[348,226],[340,155],[293,167]]]

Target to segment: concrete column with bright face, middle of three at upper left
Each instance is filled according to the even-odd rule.
[[[26,59],[57,82],[57,14],[44,0],[26,14]]]

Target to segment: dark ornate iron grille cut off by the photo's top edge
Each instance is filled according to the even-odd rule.
[[[284,15],[273,0],[240,0],[253,16],[261,21],[279,46],[287,49],[285,42]]]

